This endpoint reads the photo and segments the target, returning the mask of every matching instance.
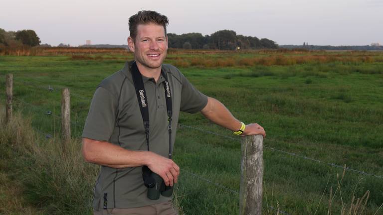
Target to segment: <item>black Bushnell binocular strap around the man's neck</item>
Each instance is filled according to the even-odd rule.
[[[146,144],[149,151],[149,108],[148,108],[148,99],[146,97],[144,81],[142,80],[142,75],[138,70],[136,62],[133,62],[131,65],[131,72],[133,77],[134,88],[136,89],[136,95],[138,104],[141,110],[141,116],[144,121],[145,133],[146,133]],[[172,159],[172,94],[170,92],[170,85],[168,82],[168,77],[166,73],[161,70],[162,76],[165,78],[164,82],[164,92],[165,92],[165,101],[166,108],[168,113],[168,131],[169,131],[169,159]]]

